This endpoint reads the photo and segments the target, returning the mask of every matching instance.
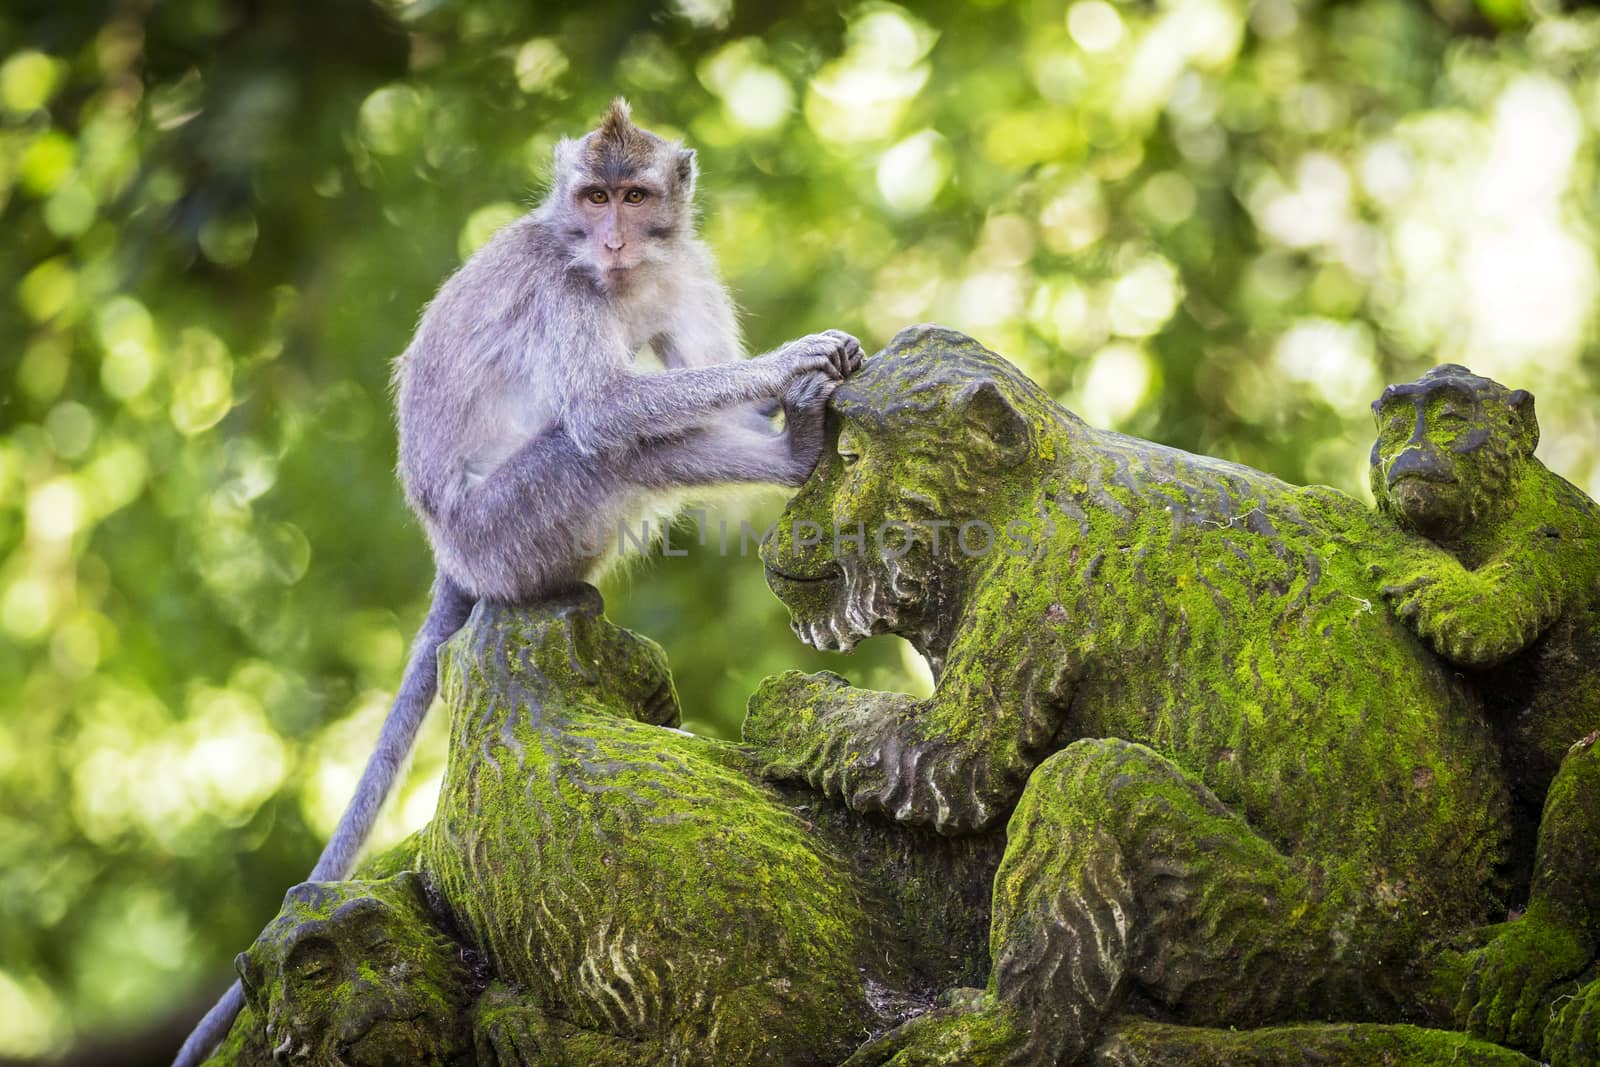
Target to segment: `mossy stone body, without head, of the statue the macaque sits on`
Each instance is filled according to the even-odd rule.
[[[442,681],[451,755],[424,851],[502,979],[682,1062],[848,1053],[877,955],[862,896],[728,745],[619,715],[662,685],[656,646],[597,601],[485,605]]]

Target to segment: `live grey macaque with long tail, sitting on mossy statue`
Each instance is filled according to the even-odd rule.
[[[822,406],[861,363],[827,331],[744,360],[733,302],[694,234],[694,152],[635,126],[555,146],[549,195],[438,291],[395,362],[400,477],[434,549],[434,603],[355,797],[310,872],[354,867],[437,689],[438,645],[472,605],[594,581],[618,530],[696,486],[797,486]],[[634,357],[650,346],[664,370]],[[776,402],[776,403],[774,403]],[[782,406],[784,430],[765,411]],[[174,1067],[238,1014],[235,982]]]

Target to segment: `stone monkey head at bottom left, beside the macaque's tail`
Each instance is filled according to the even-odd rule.
[[[234,965],[274,1062],[398,1067],[470,1057],[464,1019],[475,979],[414,872],[294,886]]]

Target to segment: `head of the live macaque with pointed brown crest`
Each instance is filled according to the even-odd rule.
[[[602,285],[670,258],[693,232],[694,152],[634,125],[611,101],[600,126],[555,146],[554,219],[574,262]]]

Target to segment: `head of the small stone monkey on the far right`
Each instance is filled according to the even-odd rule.
[[[1539,443],[1533,395],[1445,363],[1373,403],[1371,483],[1402,526],[1448,544],[1512,504]]]

